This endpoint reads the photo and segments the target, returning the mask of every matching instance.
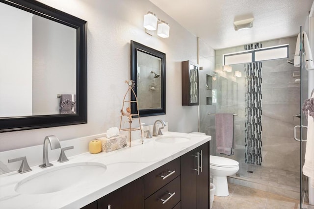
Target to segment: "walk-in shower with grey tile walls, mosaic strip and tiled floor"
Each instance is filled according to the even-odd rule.
[[[239,162],[239,171],[228,178],[230,183],[300,199],[301,147],[293,139],[293,129],[300,124],[300,118],[295,116],[300,114],[301,76],[296,72],[299,68],[289,65],[293,64],[296,38],[262,42],[263,47],[288,45],[286,58],[230,65],[231,72],[223,70],[223,55],[244,51],[243,46],[215,50],[212,57],[200,59],[200,66],[211,63],[200,72],[200,132],[212,137],[210,155]],[[235,71],[242,76],[235,76]],[[206,77],[213,72],[217,79],[208,91]],[[252,80],[252,74],[256,80]],[[214,94],[216,102],[208,105],[206,98]],[[237,114],[234,155],[215,153],[215,117],[208,113]],[[249,114],[253,116],[248,120]],[[253,131],[247,133],[252,124]],[[252,138],[259,134],[260,139]]]

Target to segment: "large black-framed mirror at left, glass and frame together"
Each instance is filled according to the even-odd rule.
[[[0,132],[87,122],[87,22],[0,0]]]

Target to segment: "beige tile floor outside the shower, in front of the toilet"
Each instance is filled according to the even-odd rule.
[[[212,209],[300,209],[299,200],[266,191],[228,184],[229,196],[214,196]],[[305,206],[314,209],[314,206]]]

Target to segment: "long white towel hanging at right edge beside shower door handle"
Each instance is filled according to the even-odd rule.
[[[314,98],[312,93],[311,98]],[[311,186],[314,187],[314,119],[308,115],[308,132],[305,149],[305,162],[303,165],[303,174],[311,178]]]

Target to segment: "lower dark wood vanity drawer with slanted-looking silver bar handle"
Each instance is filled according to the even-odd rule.
[[[181,200],[181,177],[163,186],[145,200],[145,209],[172,209]]]

